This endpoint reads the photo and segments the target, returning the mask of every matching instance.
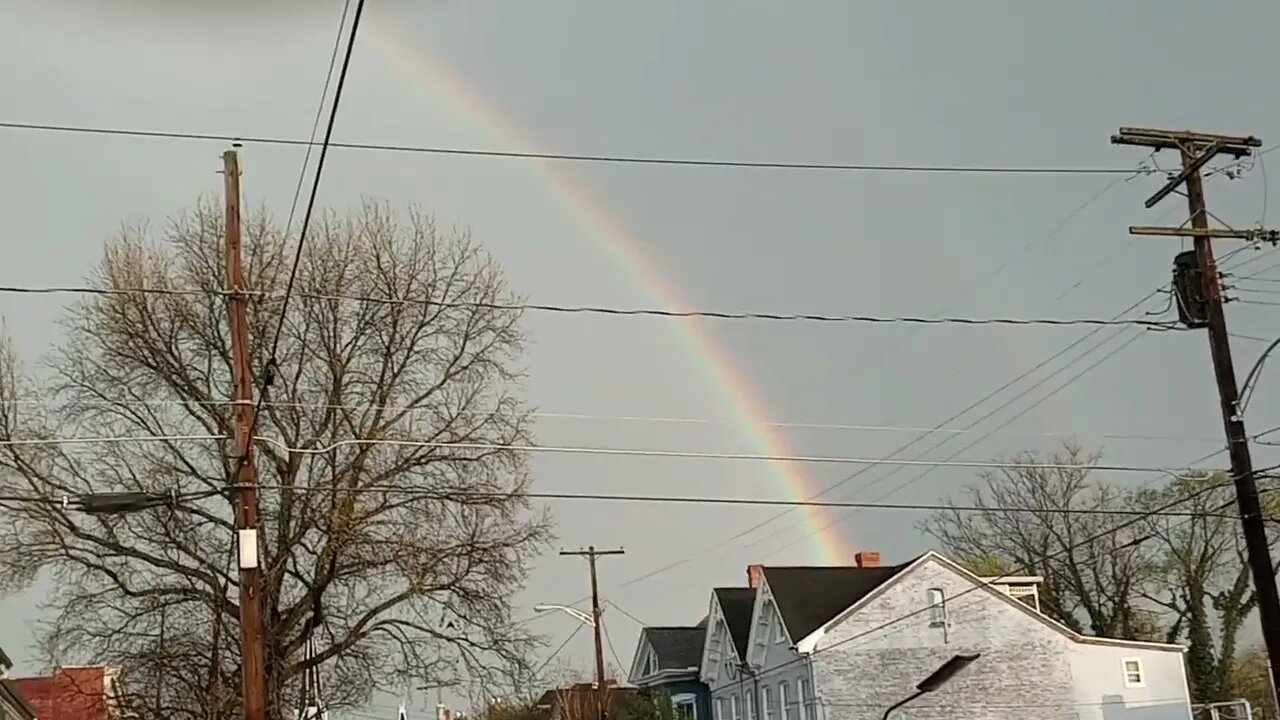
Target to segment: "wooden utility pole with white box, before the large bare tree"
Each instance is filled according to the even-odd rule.
[[[241,266],[239,155],[223,152],[227,191],[227,322],[232,346],[236,456],[232,507],[239,559],[241,701],[244,720],[266,720],[266,652],[262,625],[262,569],[257,538],[257,466],[253,464],[253,369],[248,351],[248,296]]]

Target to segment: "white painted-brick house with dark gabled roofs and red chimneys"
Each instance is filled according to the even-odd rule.
[[[988,582],[936,552],[895,566],[748,568],[745,652],[708,629],[714,720],[879,719],[957,655],[977,655],[902,720],[1189,720],[1183,647],[1082,635],[1037,610],[1037,578]],[[713,593],[710,621],[719,598]]]

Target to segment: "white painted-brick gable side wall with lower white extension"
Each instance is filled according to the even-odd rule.
[[[973,652],[982,657],[937,693],[895,711],[895,720],[1189,717],[1185,701],[1152,706],[1143,715],[1116,715],[1112,710],[1124,710],[1119,705],[1100,705],[1112,691],[1126,703],[1138,697],[1185,698],[1181,675],[1171,676],[1167,670],[1181,661],[1180,652],[1076,643],[993,591],[966,592],[974,585],[969,577],[928,557],[822,637],[810,662],[823,720],[879,719],[948,659]],[[947,598],[947,626],[933,623],[934,614],[925,610],[931,588],[941,588]],[[879,628],[886,623],[892,625]],[[1152,657],[1144,660],[1144,666],[1151,666],[1147,685],[1125,688],[1119,660],[1111,664],[1116,673],[1112,685],[1092,675],[1082,675],[1083,682],[1076,683],[1078,662],[1103,665],[1096,659],[1098,650],[1117,650],[1117,659],[1126,652]]]

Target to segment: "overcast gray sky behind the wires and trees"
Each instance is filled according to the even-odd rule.
[[[9,0],[0,23],[4,120],[305,137],[342,3],[36,3]],[[399,3],[369,0],[337,138],[492,150],[879,164],[1135,167],[1116,127],[1190,127],[1280,142],[1274,90],[1275,3]],[[369,32],[365,32],[369,31]],[[399,50],[397,50],[399,47]],[[1197,51],[1198,50],[1198,51]],[[438,70],[430,70],[431,67]],[[485,115],[453,87],[492,108]],[[512,142],[532,143],[512,146]],[[122,222],[164,218],[219,192],[224,147],[0,129],[4,284],[77,284]],[[1276,155],[1275,158],[1280,158]],[[282,215],[300,149],[247,146],[251,202]],[[1172,164],[1174,158],[1161,158]],[[1280,160],[1275,161],[1280,168]],[[553,173],[553,174],[548,174]],[[1276,176],[1280,178],[1280,176]],[[553,179],[558,178],[558,179]],[[876,315],[1111,316],[1167,282],[1176,241],[1125,227],[1184,217],[1142,200],[1158,177],[965,176],[582,165],[334,151],[321,200],[421,204],[467,225],[539,302],[654,306],[653,283],[691,307]],[[1277,181],[1280,184],[1280,181]],[[573,191],[566,192],[564,187]],[[1215,177],[1211,208],[1235,227],[1262,219],[1260,168]],[[585,195],[582,195],[585,193]],[[1272,191],[1272,202],[1280,196]],[[590,211],[586,211],[588,209]],[[1162,215],[1172,209],[1172,215]],[[602,237],[603,214],[657,272],[644,277]],[[1060,227],[1061,225],[1061,227]],[[1057,228],[1057,232],[1055,232]],[[1224,246],[1225,251],[1226,247]],[[1252,258],[1242,254],[1236,260]],[[1249,265],[1260,270],[1272,260]],[[1280,254],[1275,256],[1280,261]],[[996,268],[1005,268],[993,274]],[[1280,278],[1280,270],[1271,273]],[[1251,287],[1268,290],[1267,283]],[[1280,286],[1276,286],[1280,288]],[[1280,301],[1280,296],[1242,296]],[[58,336],[65,297],[0,296],[20,350]],[[1144,307],[1158,307],[1160,302]],[[1271,307],[1230,306],[1234,332],[1268,337]],[[932,427],[1083,336],[1078,328],[881,327],[712,322],[707,328],[772,421]],[[529,400],[547,413],[699,418],[723,424],[541,419],[547,445],[762,452],[660,319],[530,315]],[[1130,331],[1137,332],[1137,331]],[[1111,334],[1093,336],[954,427],[965,427]],[[1121,336],[928,457],[995,428],[1117,347]],[[1261,350],[1238,341],[1245,369]],[[1274,378],[1263,378],[1274,379]],[[1280,424],[1263,382],[1251,429]],[[874,457],[905,432],[774,429],[796,454]],[[1221,434],[1199,333],[1146,333],[1016,423],[964,452],[987,459],[1048,448],[1037,433],[1078,433],[1111,462],[1180,465]],[[1114,434],[1199,438],[1135,441]],[[941,439],[941,438],[940,438]],[[938,439],[918,446],[916,452]],[[1257,451],[1257,462],[1280,452]],[[767,462],[539,456],[543,491],[794,497]],[[856,466],[813,465],[814,489]],[[877,469],[832,493],[872,500],[918,469]],[[940,469],[893,496],[931,502],[973,473]],[[1140,482],[1147,478],[1117,478]],[[650,624],[696,621],[707,593],[739,584],[750,561],[814,562],[797,515],[700,551],[772,509],[554,505],[561,543],[625,546],[602,565],[609,600]],[[828,515],[836,518],[836,515]],[[846,548],[899,561],[928,547],[905,512],[845,512]],[[776,537],[768,537],[778,533]],[[751,547],[750,542],[767,538]],[[675,560],[677,570],[618,588]],[[577,600],[582,562],[540,560],[521,612]],[[40,597],[5,601],[0,646],[19,673]],[[639,626],[607,612],[625,664]],[[553,644],[573,621],[538,621]],[[588,667],[581,633],[566,651]],[[388,696],[389,697],[389,696]],[[394,703],[394,698],[384,705]]]

